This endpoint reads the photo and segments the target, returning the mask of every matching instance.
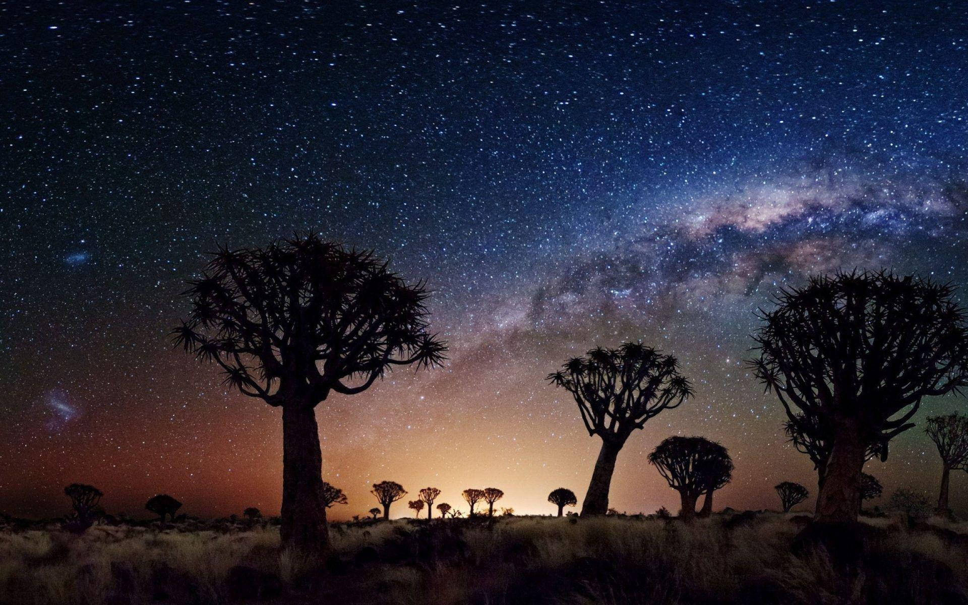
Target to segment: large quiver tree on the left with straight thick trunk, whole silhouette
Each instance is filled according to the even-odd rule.
[[[243,394],[283,408],[282,542],[328,548],[316,406],[365,391],[393,366],[444,359],[428,332],[426,287],[315,234],[223,248],[190,285],[192,314],[172,331],[176,344],[216,362]]]

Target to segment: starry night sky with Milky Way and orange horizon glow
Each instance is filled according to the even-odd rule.
[[[166,332],[217,243],[297,229],[427,280],[451,344],[318,407],[336,518],[383,479],[581,500],[600,441],[544,377],[635,339],[696,397],[628,440],[612,505],[678,509],[646,463],[673,434],[730,449],[717,506],[814,492],[742,363],[753,312],[840,267],[968,285],[964,9],[0,1],[0,510],[62,514],[78,481],[109,512],[278,512],[279,410]],[[933,498],[941,466],[919,426],[865,470]]]

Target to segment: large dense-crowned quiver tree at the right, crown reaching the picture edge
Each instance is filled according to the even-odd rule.
[[[856,522],[871,444],[886,460],[923,397],[968,381],[966,315],[953,291],[887,271],[837,273],[783,289],[761,311],[750,366],[791,423],[829,439],[818,521]]]

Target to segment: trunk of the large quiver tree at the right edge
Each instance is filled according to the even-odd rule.
[[[861,510],[861,470],[866,447],[854,421],[841,421],[834,429],[831,459],[824,486],[817,496],[817,521],[854,523]]]

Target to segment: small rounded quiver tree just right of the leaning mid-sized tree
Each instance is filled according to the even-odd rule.
[[[696,499],[704,494],[713,469],[721,465],[726,448],[702,437],[670,437],[663,439],[652,453],[649,463],[679,492],[679,518],[691,521],[696,514]],[[728,457],[728,454],[726,454]]]

